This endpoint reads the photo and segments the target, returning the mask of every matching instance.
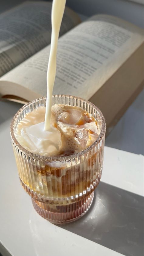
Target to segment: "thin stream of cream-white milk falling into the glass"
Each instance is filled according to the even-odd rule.
[[[46,95],[46,115],[45,115],[45,131],[52,131],[51,125],[51,106],[52,106],[52,94],[53,85],[56,77],[56,65],[57,65],[57,43],[60,32],[60,25],[63,18],[63,12],[65,8],[66,0],[53,0],[51,21],[52,21],[52,34],[50,45],[50,57],[47,68],[47,95]],[[55,130],[53,130],[54,132]]]

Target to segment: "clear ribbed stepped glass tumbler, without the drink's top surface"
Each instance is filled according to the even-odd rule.
[[[66,157],[43,157],[19,144],[15,138],[16,126],[26,113],[46,106],[46,97],[24,105],[10,125],[21,184],[31,195],[39,215],[57,224],[76,220],[90,208],[94,189],[101,179],[106,129],[104,116],[91,102],[70,95],[54,95],[53,104],[58,103],[81,107],[97,120],[100,135],[86,150]]]

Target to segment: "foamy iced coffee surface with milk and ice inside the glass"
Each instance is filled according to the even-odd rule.
[[[44,130],[45,111],[40,106],[27,113],[17,125],[15,137],[30,152],[42,156],[71,155],[86,149],[98,138],[100,130],[94,118],[83,109],[55,104],[48,131]]]

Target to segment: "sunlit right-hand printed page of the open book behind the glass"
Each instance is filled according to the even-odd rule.
[[[59,39],[53,94],[90,99],[142,42],[142,29],[128,22],[107,15],[91,17]],[[46,95],[49,51],[50,46],[3,76],[0,92],[4,94],[3,81],[5,86],[9,81],[23,86],[19,97],[26,96],[26,89],[27,100]]]

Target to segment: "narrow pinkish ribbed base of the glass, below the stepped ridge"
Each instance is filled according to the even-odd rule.
[[[82,217],[90,209],[94,191],[84,199],[67,205],[50,205],[32,198],[32,203],[40,216],[54,224],[72,222]]]

